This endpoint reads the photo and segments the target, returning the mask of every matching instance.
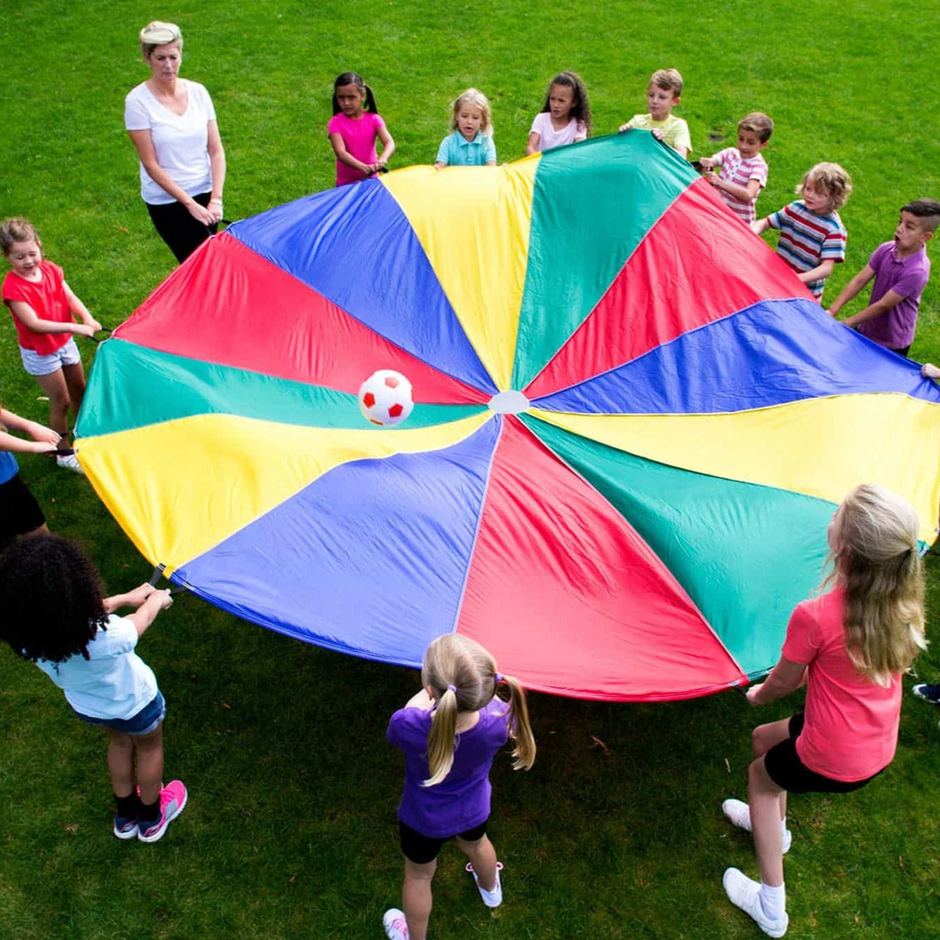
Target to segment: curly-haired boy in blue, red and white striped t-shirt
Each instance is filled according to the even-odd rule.
[[[838,164],[816,164],[807,171],[796,193],[803,198],[752,222],[758,235],[779,228],[776,253],[820,300],[825,279],[845,260],[845,226],[838,210],[852,192],[852,178]]]

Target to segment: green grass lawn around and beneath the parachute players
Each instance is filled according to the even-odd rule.
[[[349,69],[375,89],[399,145],[392,165],[402,166],[431,163],[447,104],[465,86],[490,96],[499,158],[514,160],[556,71],[582,74],[595,133],[608,133],[643,110],[650,71],[675,66],[686,80],[677,113],[697,155],[732,142],[748,111],[775,118],[761,214],[789,201],[811,164],[836,160],[852,173],[848,259],[830,300],[890,238],[903,202],[940,196],[940,8],[911,0],[3,0],[0,9],[0,215],[36,223],[48,257],[109,327],[172,269],[122,123],[124,95],[146,77],[136,33],[158,16],[180,23],[182,74],[211,91],[232,219],[332,184],[330,94]],[[84,350],[88,368],[94,351]],[[940,362],[936,275],[912,355]],[[48,414],[8,321],[0,394],[19,414]],[[149,576],[86,480],[39,459],[21,465],[51,527],[85,541],[111,589]],[[935,558],[928,572],[935,610]],[[169,703],[167,776],[191,792],[152,846],[109,833],[103,735],[72,719],[38,670],[0,650],[0,940],[381,936],[400,878],[401,770],[384,727],[415,691],[415,673],[304,646],[186,596],[142,653]],[[940,681],[940,654],[917,670]],[[535,768],[513,774],[501,759],[493,773],[506,902],[491,915],[447,848],[431,936],[759,936],[721,887],[726,866],[752,875],[757,866],[720,803],[744,796],[751,727],[791,713],[799,696],[760,711],[736,693],[666,705],[533,696],[531,707]],[[885,776],[839,799],[791,800],[790,936],[935,930],[938,717],[905,695]]]

